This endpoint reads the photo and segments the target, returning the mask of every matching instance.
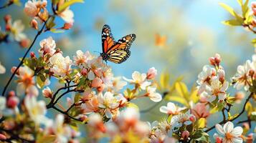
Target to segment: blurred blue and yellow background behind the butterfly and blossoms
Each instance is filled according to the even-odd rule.
[[[4,1],[0,1],[2,5]],[[4,26],[4,15],[11,14],[13,19],[22,19],[26,25],[25,33],[33,39],[36,31],[29,29],[29,17],[22,6],[9,6],[0,10],[0,25]],[[221,21],[229,19],[227,11],[219,6],[224,2],[240,11],[234,0],[85,0],[84,4],[71,6],[75,14],[75,24],[64,34],[45,33],[39,36],[32,51],[39,49],[39,41],[52,36],[57,47],[65,56],[75,55],[77,49],[101,52],[101,29],[108,24],[115,39],[127,34],[136,34],[131,46],[131,56],[123,64],[113,64],[115,76],[131,78],[133,71],[146,72],[151,66],[158,69],[158,74],[168,71],[171,79],[183,76],[189,88],[196,83],[202,67],[208,64],[208,58],[218,53],[222,56],[222,66],[229,80],[236,72],[237,66],[251,59],[254,47],[251,44],[253,34],[241,27],[229,27]],[[57,19],[62,26],[63,21]],[[12,42],[0,44],[0,61],[6,66],[6,74],[0,75],[1,89],[9,78],[11,66],[19,63],[26,49]],[[95,53],[97,54],[97,53]],[[15,84],[13,84],[13,89]],[[11,87],[9,87],[11,89]],[[234,93],[232,87],[230,91]],[[155,103],[144,100],[139,102],[140,109],[147,109]],[[166,104],[166,102],[161,102]],[[158,105],[158,107],[161,106]],[[237,109],[240,110],[240,106]],[[141,114],[143,120],[159,119],[159,108]],[[236,111],[234,107],[234,111]],[[210,117],[212,126],[219,114]]]

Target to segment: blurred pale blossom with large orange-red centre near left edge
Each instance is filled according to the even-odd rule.
[[[19,67],[17,95],[27,94],[37,96],[39,94],[34,82],[34,71],[27,66]]]

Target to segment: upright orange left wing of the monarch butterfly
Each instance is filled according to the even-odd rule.
[[[115,39],[111,33],[110,26],[105,24],[101,33],[101,40],[103,45],[103,53],[106,53],[115,44]]]

